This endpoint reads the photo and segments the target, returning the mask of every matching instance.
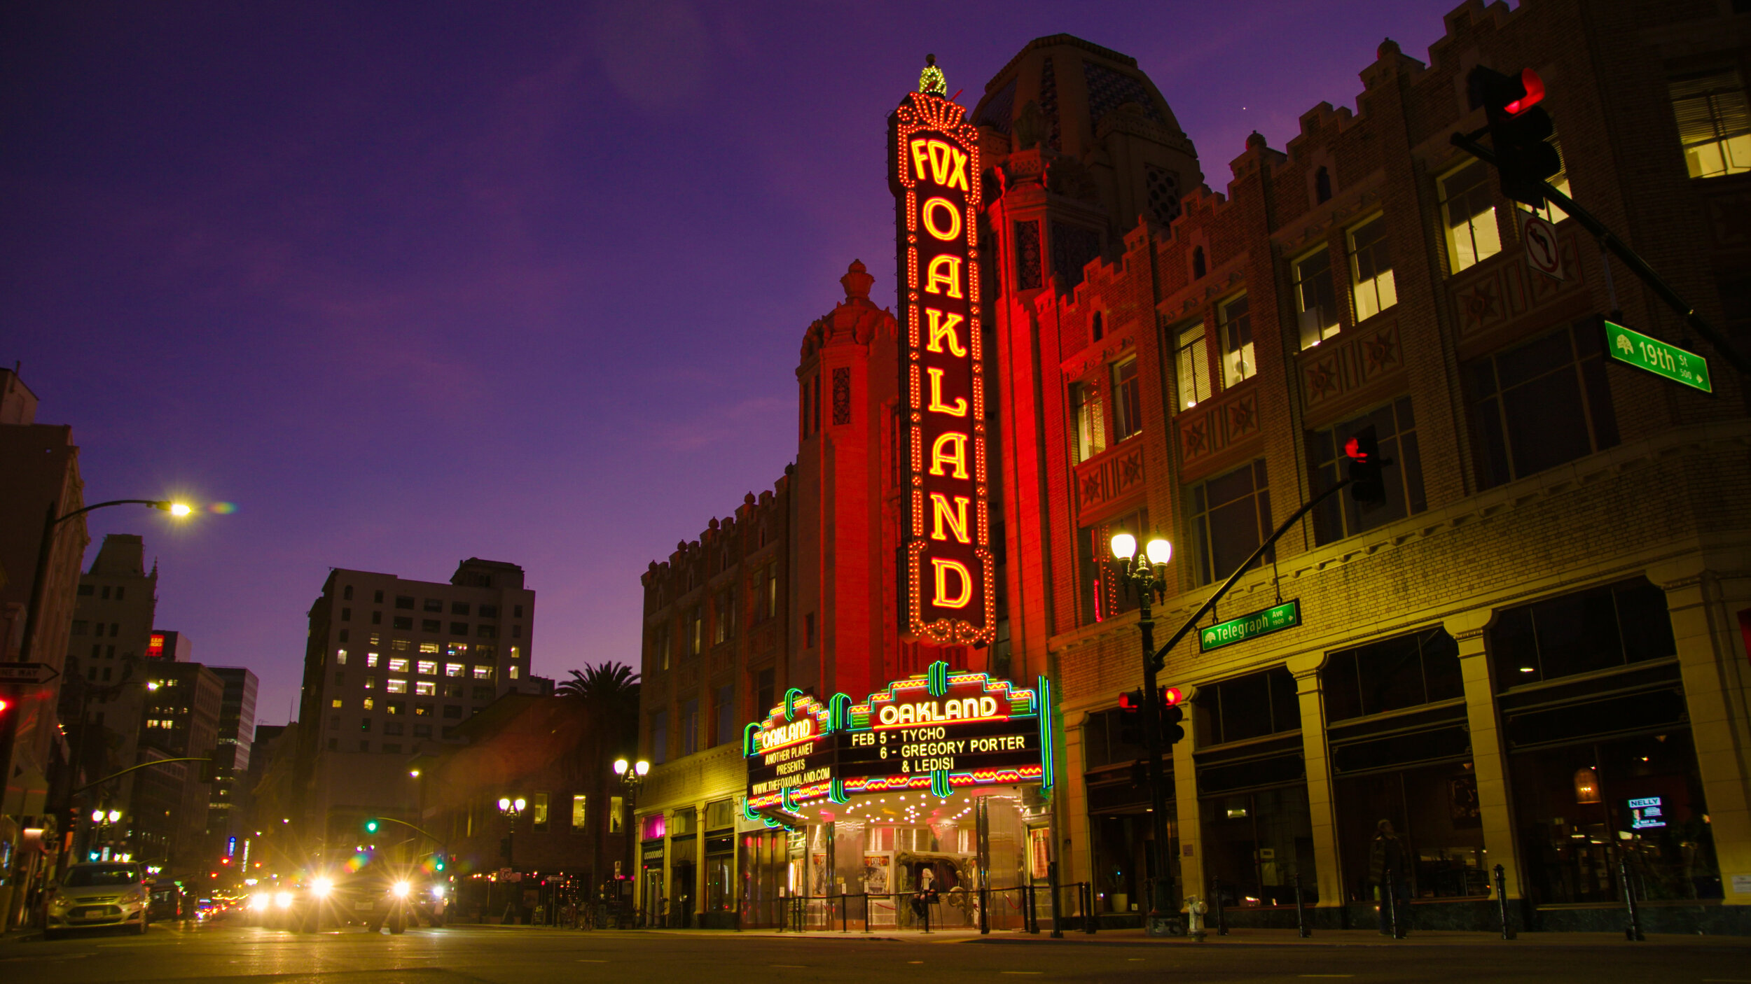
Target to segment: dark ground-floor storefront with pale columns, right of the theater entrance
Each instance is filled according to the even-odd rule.
[[[1735,615],[1695,580],[1618,576],[1182,671],[1173,895],[1229,924],[1375,926],[1390,851],[1413,928],[1497,928],[1506,893],[1522,930],[1621,930],[1632,893],[1648,931],[1751,933]],[[1119,714],[1066,699],[1066,881],[1108,926],[1138,924],[1154,877]]]

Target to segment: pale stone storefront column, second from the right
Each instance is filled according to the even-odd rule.
[[[1495,672],[1485,646],[1490,609],[1467,611],[1445,622],[1448,636],[1459,643],[1459,672],[1466,681],[1466,723],[1471,727],[1471,767],[1478,776],[1478,812],[1483,819],[1483,849],[1490,865],[1508,879],[1508,898],[1522,898],[1520,842],[1508,807],[1508,739],[1495,711]]]

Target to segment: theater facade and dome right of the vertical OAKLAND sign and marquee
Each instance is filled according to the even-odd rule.
[[[1317,924],[1371,926],[1392,819],[1413,926],[1492,928],[1502,865],[1518,926],[1618,930],[1623,860],[1649,926],[1751,931],[1742,383],[1695,338],[1714,397],[1606,361],[1590,236],[1555,214],[1567,278],[1534,271],[1494,173],[1448,144],[1483,123],[1473,65],[1537,68],[1557,182],[1746,348],[1751,175],[1697,124],[1702,89],[1746,105],[1744,18],[1590,14],[1462,4],[1431,65],[1382,46],[1357,112],[1310,109],[1287,152],[1248,138],[1226,194],[1135,65],[1075,39],[1033,42],[974,110],[1002,189],[1014,658],[1059,686],[1059,867],[1103,919],[1136,924],[1154,874],[1108,538],[1175,543],[1161,643],[1373,425],[1387,504],[1315,511],[1215,618],[1297,601],[1299,623],[1168,655],[1191,697],[1175,898],[1294,924],[1299,879]],[[1623,320],[1681,343],[1614,275]]]

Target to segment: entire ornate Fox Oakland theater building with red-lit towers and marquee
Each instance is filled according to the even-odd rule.
[[[893,303],[849,266],[795,460],[644,573],[644,919],[1373,926],[1390,826],[1411,931],[1751,931],[1751,49],[1581,7],[1382,42],[1220,193],[1117,51],[972,109],[932,65]],[[1551,186],[1711,331],[1453,145],[1476,67],[1537,72]],[[1296,518],[1366,438],[1375,501]],[[1159,788],[1115,534],[1171,543]]]

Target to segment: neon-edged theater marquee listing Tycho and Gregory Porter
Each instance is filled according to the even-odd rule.
[[[946,797],[961,786],[1051,784],[1047,697],[1045,678],[1021,690],[944,662],[861,704],[839,693],[823,707],[793,690],[765,721],[748,725],[746,811],[753,818],[912,788]]]

